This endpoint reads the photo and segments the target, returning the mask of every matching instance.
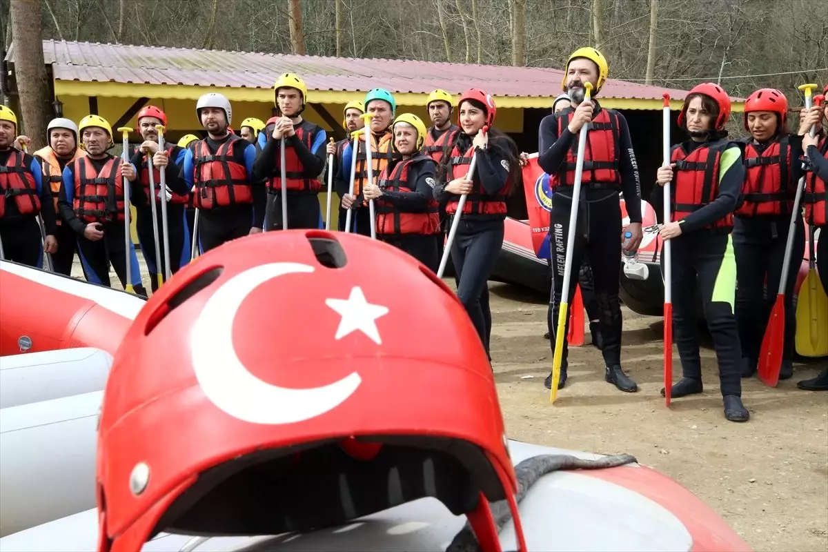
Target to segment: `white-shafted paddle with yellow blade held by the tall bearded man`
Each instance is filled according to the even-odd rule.
[[[585,83],[584,101],[589,102],[592,95],[592,83]],[[572,274],[572,249],[575,248],[575,232],[578,224],[578,199],[580,199],[580,181],[584,176],[584,151],[586,149],[586,132],[588,124],[580,127],[578,134],[578,157],[575,160],[575,183],[572,188],[572,207],[570,209],[569,233],[566,236],[566,261],[564,262],[564,282],[561,288],[561,306],[558,312],[558,329],[555,332],[555,353],[552,356],[552,387],[549,390],[549,402],[554,403],[558,396],[558,384],[561,382],[561,361],[564,351],[564,330],[566,315],[569,310],[569,283]],[[554,298],[554,293],[551,296]]]

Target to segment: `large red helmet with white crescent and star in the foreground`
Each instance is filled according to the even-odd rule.
[[[487,551],[500,550],[489,503],[505,499],[526,550],[516,494],[460,300],[356,234],[268,232],[205,253],[147,301],[104,391],[99,552],[161,531],[319,529],[421,497],[465,514]]]

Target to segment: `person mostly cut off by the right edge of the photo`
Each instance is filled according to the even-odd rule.
[[[823,94],[828,98],[828,84]],[[828,291],[828,101],[823,99],[821,107],[816,105],[802,120],[799,133],[802,148],[806,152],[808,170],[805,175],[805,219],[815,228],[821,228],[821,240],[816,243],[816,266],[822,289]],[[816,135],[811,137],[811,127],[816,126]],[[828,391],[828,368],[817,377],[797,382],[797,387],[806,391]]]

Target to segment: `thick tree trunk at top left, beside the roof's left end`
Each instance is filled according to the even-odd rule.
[[[43,27],[41,0],[12,0],[12,37],[14,40],[14,74],[21,124],[17,132],[31,138],[34,151],[46,146],[46,125],[51,119],[48,75],[43,61]],[[25,127],[23,124],[25,123]]]

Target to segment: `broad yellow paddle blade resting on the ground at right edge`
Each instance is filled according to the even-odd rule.
[[[828,295],[815,270],[808,271],[797,298],[797,353],[828,356]]]

